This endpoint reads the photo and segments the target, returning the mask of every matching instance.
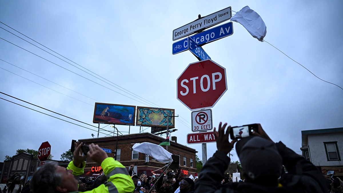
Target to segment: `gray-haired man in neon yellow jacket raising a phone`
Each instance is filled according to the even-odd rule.
[[[108,182],[106,185],[102,184],[91,191],[86,191],[86,193],[133,192],[133,181],[126,168],[120,162],[109,158],[103,149],[93,143],[89,145],[87,155],[82,155],[81,146],[81,142],[75,143],[74,160],[68,164],[67,168],[58,166],[56,162],[48,162],[44,167],[37,170],[30,181],[31,191],[33,193],[77,192],[79,176],[84,172],[84,159],[88,156],[93,161],[101,164]]]

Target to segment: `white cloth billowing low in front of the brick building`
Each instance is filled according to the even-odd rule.
[[[171,153],[157,144],[148,142],[140,144],[137,143],[133,145],[132,149],[140,153],[147,154],[162,163],[170,163],[173,161],[173,159],[171,158]]]

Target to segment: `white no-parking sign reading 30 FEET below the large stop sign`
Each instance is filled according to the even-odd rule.
[[[212,110],[192,111],[192,132],[212,130]]]

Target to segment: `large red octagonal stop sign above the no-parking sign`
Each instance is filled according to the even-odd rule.
[[[190,110],[212,108],[226,90],[226,70],[211,59],[189,64],[177,79],[177,99]]]

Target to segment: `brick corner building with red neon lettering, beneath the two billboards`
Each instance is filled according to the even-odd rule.
[[[99,147],[110,149],[111,153],[108,153],[109,157],[114,157],[114,152],[117,146],[117,160],[120,161],[125,167],[129,168],[131,164],[135,165],[134,171],[141,174],[143,171],[147,172],[148,176],[155,175],[156,177],[161,175],[164,171],[162,168],[165,163],[158,162],[154,158],[131,150],[132,146],[136,143],[149,142],[153,144],[160,144],[164,138],[151,133],[137,133],[129,135],[121,135],[115,137],[99,137],[99,138],[88,138],[79,139],[86,145],[94,143],[98,144]],[[164,146],[166,148],[166,146]],[[196,164],[196,151],[195,149],[187,146],[178,144],[177,141],[170,141],[168,151],[173,154],[173,159],[177,156],[179,164],[177,166],[184,170],[186,176],[193,175],[197,172]],[[137,166],[137,167],[136,167]],[[101,173],[100,164],[93,162],[90,158],[86,160],[85,172],[81,177],[95,177]],[[174,171],[176,170],[172,168]],[[158,170],[159,169],[159,170]],[[157,171],[155,171],[157,170]]]

